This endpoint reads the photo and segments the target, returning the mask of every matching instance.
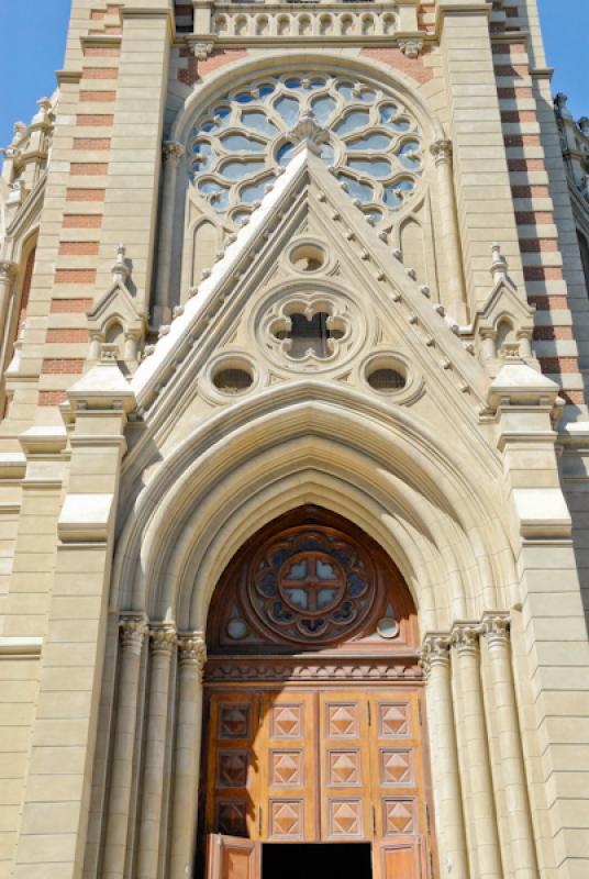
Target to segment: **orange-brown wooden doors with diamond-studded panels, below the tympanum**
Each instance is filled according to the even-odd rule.
[[[421,700],[419,686],[209,690],[204,823],[218,879],[232,879],[230,863],[256,879],[260,843],[360,842],[375,879],[425,879]]]

